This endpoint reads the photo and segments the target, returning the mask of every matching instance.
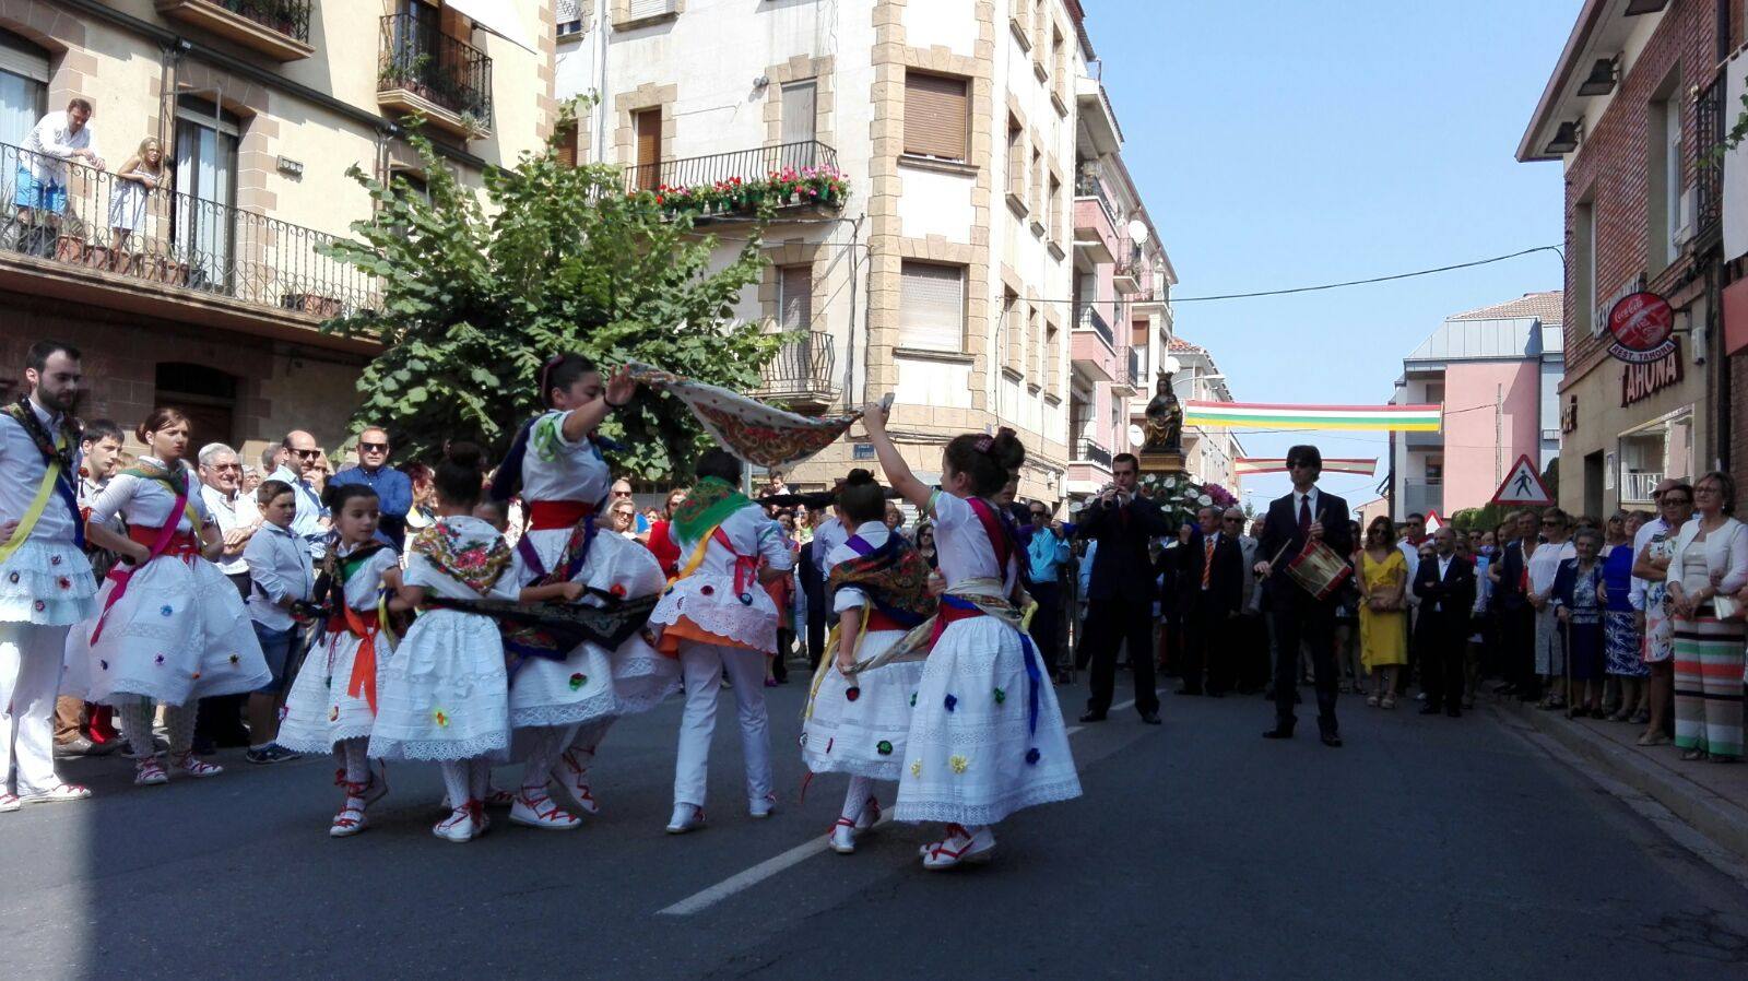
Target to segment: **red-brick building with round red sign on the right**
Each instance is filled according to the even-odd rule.
[[[1743,0],[1585,0],[1517,147],[1519,161],[1561,161],[1566,173],[1559,504],[1570,511],[1638,504],[1631,488],[1731,456],[1722,180],[1706,161],[1741,31]],[[1606,318],[1641,290],[1675,310],[1675,350],[1627,364],[1608,351]]]

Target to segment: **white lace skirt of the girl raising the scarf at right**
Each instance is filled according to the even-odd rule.
[[[1021,808],[1080,796],[1049,675],[1038,680],[1038,727],[1030,727],[1019,631],[995,617],[951,623],[923,664],[898,820],[996,824]]]

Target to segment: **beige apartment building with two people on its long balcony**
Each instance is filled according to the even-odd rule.
[[[420,185],[423,119],[481,185],[551,133],[552,0],[7,0],[0,3],[0,360],[86,351],[87,418],[152,406],[194,441],[252,451],[287,428],[334,446],[372,346],[318,324],[371,306],[318,248],[371,215],[360,166]],[[63,213],[21,208],[42,114],[94,103],[101,168],[70,166]],[[161,187],[115,171],[143,140]],[[28,203],[28,196],[23,199]]]

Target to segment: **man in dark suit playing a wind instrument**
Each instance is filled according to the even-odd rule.
[[[1154,565],[1148,539],[1169,535],[1159,505],[1134,490],[1141,462],[1119,453],[1110,463],[1113,483],[1080,514],[1080,537],[1098,542],[1092,577],[1087,582],[1087,637],[1084,651],[1092,661],[1091,696],[1082,722],[1103,722],[1117,684],[1117,647],[1129,642],[1134,671],[1134,710],[1141,722],[1159,724],[1154,694]]]

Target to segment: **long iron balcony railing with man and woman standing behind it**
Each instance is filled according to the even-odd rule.
[[[0,252],[322,318],[378,306],[367,273],[316,250],[334,240],[0,143]]]

